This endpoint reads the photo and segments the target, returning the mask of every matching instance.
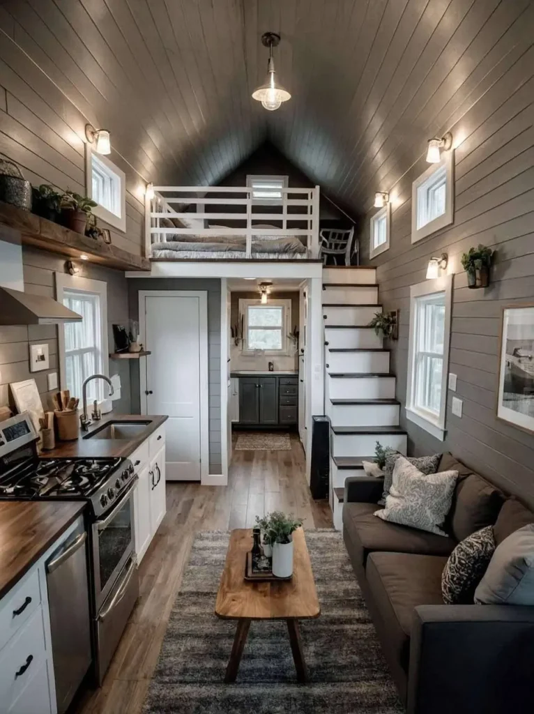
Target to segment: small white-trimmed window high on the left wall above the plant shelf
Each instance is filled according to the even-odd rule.
[[[98,203],[92,211],[106,223],[126,231],[126,175],[107,156],[86,144],[86,192]]]

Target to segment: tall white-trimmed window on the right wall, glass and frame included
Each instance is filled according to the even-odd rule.
[[[450,303],[453,276],[410,288],[406,417],[445,438]]]

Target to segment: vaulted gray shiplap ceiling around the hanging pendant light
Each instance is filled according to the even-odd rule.
[[[0,4],[0,28],[145,178],[217,183],[270,139],[358,212],[526,61],[533,26],[529,0]],[[251,99],[268,30],[293,94],[272,113]]]

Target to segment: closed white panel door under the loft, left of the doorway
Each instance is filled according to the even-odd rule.
[[[143,297],[146,348],[151,355],[146,357],[141,389],[148,392],[146,413],[168,415],[166,478],[200,481],[202,411],[205,406],[207,419],[208,403],[206,294]]]

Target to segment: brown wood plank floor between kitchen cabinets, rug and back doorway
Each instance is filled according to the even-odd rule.
[[[304,528],[332,527],[328,503],[311,498],[304,465],[292,436],[291,451],[234,451],[226,488],[167,483],[167,514],[139,568],[141,594],[131,621],[104,685],[81,695],[76,714],[141,713],[196,531],[247,528],[278,509],[302,518]]]

